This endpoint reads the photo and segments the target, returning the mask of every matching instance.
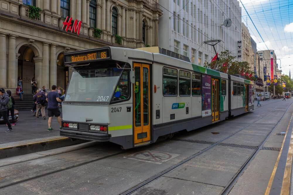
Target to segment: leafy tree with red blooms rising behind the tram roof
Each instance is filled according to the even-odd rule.
[[[217,66],[214,69],[214,66],[216,65],[217,61],[213,61],[211,63],[205,63],[204,67],[211,68],[214,70],[217,70],[222,73],[227,73],[230,75],[243,75],[247,80],[254,80],[254,72],[251,70],[249,63],[244,62],[238,62],[235,61],[235,56],[231,55],[231,52],[226,50],[221,52],[218,55],[219,61]]]

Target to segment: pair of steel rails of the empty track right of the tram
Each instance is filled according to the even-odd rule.
[[[272,103],[277,103],[277,102],[272,102]],[[269,103],[269,104],[272,104]],[[292,102],[293,103],[293,102]],[[261,141],[261,143],[258,145],[257,149],[253,152],[253,154],[248,158],[248,160],[241,166],[241,168],[239,169],[239,171],[234,175],[234,177],[229,181],[229,183],[224,187],[223,191],[221,192],[221,194],[228,194],[229,191],[232,189],[232,187],[234,186],[234,184],[237,182],[237,179],[239,178],[239,176],[242,174],[242,172],[246,169],[246,167],[249,165],[249,163],[253,160],[254,156],[258,153],[258,151],[260,151],[260,149],[262,148],[263,144],[265,143],[265,141],[268,139],[268,137],[271,135],[271,133],[275,130],[275,128],[277,127],[277,125],[281,122],[281,120],[284,118],[285,114],[287,113],[288,109],[290,108],[290,106],[292,105],[292,103],[289,104],[289,106],[287,107],[285,113],[283,114],[283,116],[280,118],[280,120],[276,123],[276,125],[274,125],[274,127],[272,128],[272,130],[267,134],[267,136]],[[268,105],[268,104],[266,104]],[[265,106],[265,105],[264,105]],[[245,127],[242,127],[241,129],[237,130],[236,132],[230,134],[228,137],[223,138],[219,141],[217,141],[216,143],[212,144],[211,146],[208,146],[207,148],[193,154],[192,156],[186,158],[185,160],[177,163],[176,165],[171,166],[170,168],[163,170],[161,172],[159,172],[158,174],[150,177],[149,179],[145,180],[144,182],[128,189],[127,191],[121,193],[121,195],[128,195],[128,194],[132,194],[135,191],[143,188],[144,186],[146,186],[147,184],[151,183],[152,181],[160,178],[161,176],[167,174],[168,172],[171,172],[172,170],[174,170],[175,168],[179,167],[180,165],[183,165],[184,163],[194,159],[195,157],[201,155],[202,153],[208,151],[209,149],[212,149],[213,147],[219,145],[221,142],[223,142],[224,140],[232,137],[233,135],[235,135],[238,132],[241,132],[242,130],[246,129],[247,127],[251,126],[252,124],[254,124],[255,122],[261,120],[262,118],[264,118],[265,116],[267,116],[268,114],[272,113],[277,107],[273,108],[271,111],[269,111],[268,113],[266,113],[265,115],[263,115],[261,118],[254,120],[253,122],[251,122],[249,125],[246,125]]]

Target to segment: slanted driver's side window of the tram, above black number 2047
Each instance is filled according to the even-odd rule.
[[[120,80],[114,92],[112,102],[126,100],[129,98],[129,70],[123,70]]]

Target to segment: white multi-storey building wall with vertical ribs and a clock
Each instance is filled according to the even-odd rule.
[[[203,65],[205,59],[211,61],[215,52],[209,45],[200,46],[201,43],[206,40],[221,39],[223,42],[216,46],[216,51],[221,53],[227,49],[237,56],[237,41],[241,40],[241,7],[237,0],[227,0],[225,3],[222,0],[159,0],[159,4],[171,12],[161,8],[163,15],[159,18],[159,47],[176,52],[175,40],[179,43],[179,54],[185,54],[183,51],[185,45],[188,47],[187,56],[193,61],[194,49],[196,51],[194,63],[199,64],[199,54],[201,54],[200,65]],[[173,13],[176,14],[175,27]],[[178,15],[181,19],[179,19],[179,28]],[[187,24],[182,21],[183,18],[188,23],[187,28]],[[232,25],[228,28],[223,26],[227,18],[232,20]],[[183,33],[183,27],[188,32]]]

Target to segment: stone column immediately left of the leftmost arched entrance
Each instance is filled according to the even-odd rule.
[[[17,36],[12,34],[9,35],[8,88],[17,87],[16,37]]]

